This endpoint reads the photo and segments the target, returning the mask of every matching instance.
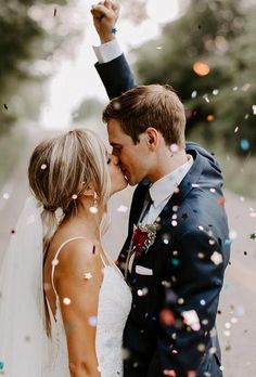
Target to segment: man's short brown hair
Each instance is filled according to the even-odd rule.
[[[184,147],[184,108],[170,86],[150,84],[128,90],[105,107],[103,121],[111,119],[120,121],[123,131],[135,144],[146,128],[154,127],[166,144]]]

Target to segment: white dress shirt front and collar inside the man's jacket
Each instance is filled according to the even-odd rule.
[[[191,155],[187,155],[187,158],[188,161],[185,164],[181,165],[171,173],[161,178],[158,181],[154,182],[150,187],[149,192],[152,199],[152,205],[148,213],[141,221],[143,225],[152,224],[158,218],[162,210],[172,196],[175,190],[178,187],[183,178],[188,174],[190,168],[193,165],[193,157]]]

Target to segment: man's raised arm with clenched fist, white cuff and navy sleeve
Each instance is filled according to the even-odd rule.
[[[101,46],[93,48],[98,57],[95,68],[108,98],[113,99],[136,86],[130,67],[115,37],[119,8],[105,0],[103,4],[92,6],[91,13],[101,40]]]

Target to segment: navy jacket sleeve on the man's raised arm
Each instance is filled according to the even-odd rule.
[[[136,86],[124,54],[108,63],[97,63],[95,68],[111,100]]]

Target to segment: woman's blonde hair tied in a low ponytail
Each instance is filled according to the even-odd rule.
[[[89,130],[75,129],[41,142],[34,151],[28,180],[39,205],[42,206],[43,251],[46,252],[59,221],[74,214],[77,197],[93,184],[99,206],[106,209],[111,195],[111,181],[106,165],[106,148],[100,138]]]

